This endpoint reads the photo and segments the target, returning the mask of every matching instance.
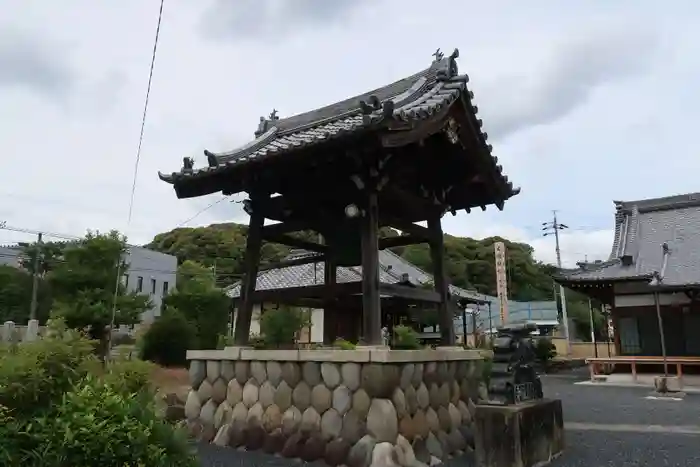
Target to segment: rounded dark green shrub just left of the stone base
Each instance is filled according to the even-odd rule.
[[[144,333],[141,358],[162,366],[184,366],[187,350],[193,348],[194,342],[192,325],[182,313],[168,308]]]

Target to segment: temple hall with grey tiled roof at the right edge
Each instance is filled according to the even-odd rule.
[[[615,201],[610,258],[556,280],[607,305],[618,355],[700,356],[700,193]]]

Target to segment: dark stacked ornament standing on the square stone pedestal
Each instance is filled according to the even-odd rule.
[[[489,403],[518,404],[542,399],[542,382],[535,370],[535,349],[531,334],[534,324],[513,324],[498,329],[493,341],[493,365]]]

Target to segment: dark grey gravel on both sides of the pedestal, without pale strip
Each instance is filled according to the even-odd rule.
[[[566,451],[553,467],[697,467],[700,435],[639,433],[634,426],[694,426],[700,429],[700,395],[682,401],[649,400],[648,389],[591,387],[574,384],[586,375],[545,376],[545,395],[564,403],[566,422],[593,424],[593,430],[567,430]],[[628,425],[623,431],[613,426]],[[606,428],[610,427],[609,431]],[[202,467],[291,467],[300,462],[258,452],[199,446]],[[312,464],[322,465],[322,464]],[[470,456],[445,467],[472,467]]]

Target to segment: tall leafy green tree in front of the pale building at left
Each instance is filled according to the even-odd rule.
[[[67,245],[63,258],[47,273],[54,311],[70,328],[87,328],[93,339],[104,343],[106,327],[135,324],[150,308],[148,296],[126,292],[117,269],[126,272],[126,238],[116,231],[90,233],[82,241]],[[116,288],[116,303],[115,303]]]

